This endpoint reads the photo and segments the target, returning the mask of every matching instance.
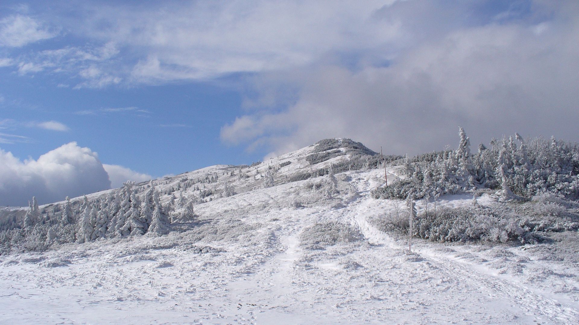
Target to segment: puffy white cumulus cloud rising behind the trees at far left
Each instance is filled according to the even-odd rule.
[[[41,203],[61,201],[109,189],[111,182],[98,155],[71,142],[21,161],[0,149],[0,204],[25,205],[35,195]]]

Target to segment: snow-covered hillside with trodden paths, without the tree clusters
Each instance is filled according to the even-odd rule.
[[[579,323],[577,231],[525,245],[414,239],[410,253],[406,237],[376,223],[408,213],[403,201],[372,198],[384,184],[384,169],[372,168],[378,157],[328,139],[251,167],[155,180],[164,206],[183,198],[195,216],[168,235],[3,254],[2,322]],[[400,166],[386,171],[389,182],[405,177]],[[144,195],[148,186],[134,187]],[[480,206],[505,206],[478,194]],[[59,216],[63,204],[40,208]],[[472,204],[469,192],[437,201],[439,209]]]

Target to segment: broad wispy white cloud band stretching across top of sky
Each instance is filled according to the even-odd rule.
[[[380,38],[396,36],[396,25],[369,19],[392,2],[86,4],[77,8],[82,22],[53,17],[86,45],[24,53],[19,73],[67,73],[81,80],[76,88],[101,88],[301,67],[328,52],[372,49]]]

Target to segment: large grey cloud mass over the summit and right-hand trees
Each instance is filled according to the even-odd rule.
[[[371,53],[355,68],[318,64],[259,76],[258,95],[249,101],[255,106],[224,125],[221,138],[272,147],[273,154],[335,136],[419,153],[455,147],[458,125],[475,143],[514,132],[578,141],[579,5],[522,3],[479,8],[485,14],[478,21],[457,19],[472,10],[441,1],[384,6],[373,17],[398,25],[408,42],[395,40],[397,53],[384,56],[386,64]],[[272,83],[280,79],[292,80],[297,91],[285,108],[272,110],[263,103],[276,102]]]

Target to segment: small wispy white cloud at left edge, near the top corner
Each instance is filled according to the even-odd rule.
[[[56,35],[28,16],[17,14],[0,20],[0,46],[21,47]]]

